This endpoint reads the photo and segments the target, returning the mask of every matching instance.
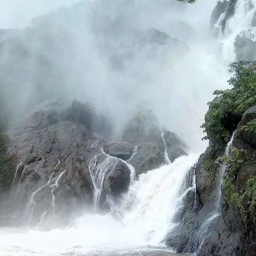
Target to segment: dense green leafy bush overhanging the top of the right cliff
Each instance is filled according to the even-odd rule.
[[[209,110],[201,126],[207,132],[203,139],[211,136],[217,141],[228,142],[242,114],[256,104],[256,74],[246,65],[242,61],[229,65],[233,76],[228,83],[232,88],[214,91],[218,99],[208,102]]]

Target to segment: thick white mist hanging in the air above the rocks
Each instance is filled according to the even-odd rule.
[[[216,2],[76,2],[0,3],[0,26],[19,28],[2,31],[0,39],[0,88],[9,116],[77,98],[108,115],[118,138],[132,114],[151,108],[162,126],[202,151],[206,103],[228,86],[229,76],[209,31]]]

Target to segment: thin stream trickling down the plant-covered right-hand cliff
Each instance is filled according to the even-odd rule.
[[[231,153],[231,147],[234,140],[234,134],[236,131],[232,134],[232,137],[230,141],[228,142],[226,149],[225,149],[225,156],[229,156]],[[218,174],[218,178],[216,181],[216,197],[214,198],[213,202],[213,210],[210,212],[209,217],[206,219],[206,221],[200,226],[199,230],[196,232],[196,235],[189,241],[189,252],[199,252],[200,248],[202,247],[202,244],[207,236],[209,236],[210,230],[215,226],[216,222],[218,221],[218,217],[221,214],[221,186],[223,183],[224,174],[227,170],[227,165],[222,164],[220,168],[220,172]],[[201,241],[201,242],[200,242]],[[200,244],[200,245],[199,245]]]

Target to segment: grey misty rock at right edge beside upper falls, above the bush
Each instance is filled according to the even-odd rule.
[[[234,41],[236,59],[252,62],[256,58],[256,41],[239,34]]]

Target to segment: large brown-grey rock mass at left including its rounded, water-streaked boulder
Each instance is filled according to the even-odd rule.
[[[10,132],[8,154],[17,166],[12,202],[18,202],[20,220],[38,224],[57,214],[68,222],[74,212],[92,207],[95,190],[101,191],[100,208],[107,208],[108,197],[116,200],[126,191],[130,169],[100,151],[105,143],[100,138],[110,133],[105,116],[76,100],[69,108],[37,111]],[[90,166],[94,156],[97,161]],[[104,176],[94,179],[96,171]]]

